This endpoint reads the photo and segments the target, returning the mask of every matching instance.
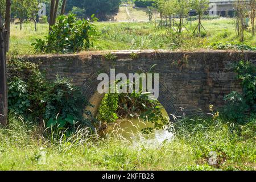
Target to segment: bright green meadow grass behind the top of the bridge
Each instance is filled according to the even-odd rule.
[[[188,23],[188,24],[187,24]],[[154,23],[148,22],[98,22],[96,27],[98,35],[94,36],[93,51],[99,50],[123,50],[123,49],[172,49],[194,51],[207,49],[212,43],[239,42],[234,27],[233,19],[203,20],[203,25],[207,30],[204,38],[195,38],[192,35],[196,27],[196,21],[185,21],[185,26],[189,32],[184,30],[183,34],[166,32],[166,29],[156,30]],[[23,30],[19,30],[18,25],[11,26],[11,48],[10,52],[18,52],[20,55],[34,54],[31,43],[36,38],[44,38],[48,34],[48,24],[38,24],[38,31],[34,31],[34,24],[23,25]],[[251,32],[245,32],[245,42],[249,46],[256,47],[256,36],[251,36]]]

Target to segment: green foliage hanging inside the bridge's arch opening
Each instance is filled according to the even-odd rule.
[[[109,123],[118,118],[139,116],[144,121],[154,123],[154,129],[163,129],[169,123],[168,118],[163,116],[163,106],[150,93],[142,93],[141,90],[142,88],[138,93],[105,94],[97,118]],[[152,130],[153,128],[146,128],[142,131],[149,134]]]

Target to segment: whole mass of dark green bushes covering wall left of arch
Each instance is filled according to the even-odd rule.
[[[51,130],[70,132],[77,125],[90,126],[92,115],[84,110],[89,103],[71,80],[57,76],[49,82],[38,65],[15,57],[8,61],[7,67],[10,114],[32,117],[38,122],[45,120],[47,126],[53,124]],[[84,119],[84,113],[88,119]]]

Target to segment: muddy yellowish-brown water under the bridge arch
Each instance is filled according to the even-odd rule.
[[[165,117],[168,117],[165,110],[162,113]],[[174,137],[167,130],[154,130],[150,135],[143,135],[141,130],[147,127],[154,128],[154,124],[144,122],[141,118],[119,119],[117,122],[109,124],[108,128],[104,131],[104,135],[106,137],[119,135],[132,142],[152,144],[155,142],[163,143],[165,140],[171,140]]]

